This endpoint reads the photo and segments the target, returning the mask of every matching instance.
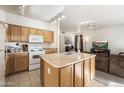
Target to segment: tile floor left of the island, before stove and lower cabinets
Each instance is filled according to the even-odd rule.
[[[6,77],[6,87],[41,87],[40,70],[8,76]]]

